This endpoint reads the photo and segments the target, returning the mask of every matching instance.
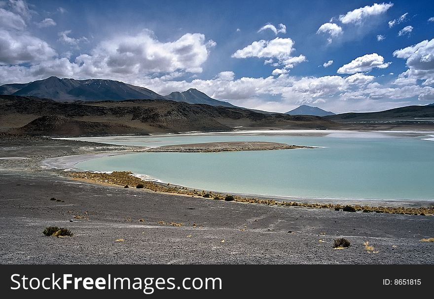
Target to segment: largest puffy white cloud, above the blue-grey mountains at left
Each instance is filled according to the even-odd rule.
[[[186,71],[201,73],[209,49],[215,42],[206,41],[199,33],[187,33],[174,42],[162,43],[150,32],[134,36],[121,35],[97,45],[91,55],[82,54],[75,59],[85,74],[110,75],[112,73],[149,75]]]

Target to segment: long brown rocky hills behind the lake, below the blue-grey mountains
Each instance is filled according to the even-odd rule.
[[[0,95],[0,131],[31,135],[227,131],[234,128],[334,128],[316,116],[263,114],[241,108],[170,100],[58,102]]]

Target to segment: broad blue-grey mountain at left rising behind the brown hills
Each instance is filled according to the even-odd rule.
[[[26,84],[1,85],[0,94],[30,95],[58,101],[165,99],[164,96],[150,89],[119,81],[59,79],[57,77],[50,77]]]

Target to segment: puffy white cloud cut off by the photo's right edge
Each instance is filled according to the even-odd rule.
[[[434,39],[396,50],[393,55],[407,59],[408,70],[399,78],[421,79],[424,85],[434,85]]]

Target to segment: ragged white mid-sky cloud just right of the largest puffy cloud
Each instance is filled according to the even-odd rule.
[[[306,61],[304,55],[299,55],[296,57],[291,56],[294,51],[294,42],[291,39],[275,38],[272,41],[255,41],[252,44],[237,50],[232,54],[233,58],[268,58],[266,63],[272,63],[273,58],[277,59],[277,63],[274,66],[282,65],[285,69],[291,69],[294,65]]]

